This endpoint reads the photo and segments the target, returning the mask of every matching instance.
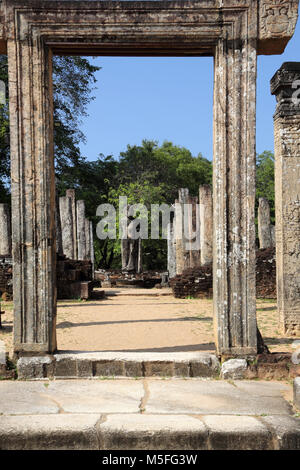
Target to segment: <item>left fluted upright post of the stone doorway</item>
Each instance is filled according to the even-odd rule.
[[[52,53],[25,29],[7,53],[14,351],[31,354],[56,350],[56,234]]]

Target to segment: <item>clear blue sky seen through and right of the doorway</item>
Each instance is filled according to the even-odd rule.
[[[88,160],[118,157],[143,139],[172,141],[212,159],[213,58],[97,57],[96,99],[82,123]],[[300,62],[300,21],[285,52],[258,57],[257,152],[273,150],[275,97],[270,79],[283,62]]]

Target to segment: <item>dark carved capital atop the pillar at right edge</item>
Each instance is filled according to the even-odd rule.
[[[271,79],[271,93],[276,95],[275,116],[300,114],[300,62],[284,62]]]

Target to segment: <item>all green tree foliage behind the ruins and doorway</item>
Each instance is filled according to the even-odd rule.
[[[162,145],[143,140],[140,145],[128,145],[117,158],[99,154],[88,161],[80,152],[85,141],[81,131],[82,119],[93,100],[96,83],[93,66],[82,57],[53,59],[54,90],[54,151],[57,190],[64,195],[74,188],[76,198],[83,199],[87,216],[94,227],[98,205],[111,203],[116,208],[120,196],[127,196],[129,204],[174,203],[179,188],[188,188],[191,196],[198,195],[199,185],[212,183],[212,162],[201,153],[194,156],[185,147],[165,141]],[[0,80],[7,85],[7,57],[0,56]],[[8,93],[7,93],[8,94]],[[96,149],[101,150],[101,149]],[[0,201],[10,200],[10,148],[8,96],[0,105]],[[275,219],[274,155],[265,151],[257,156],[256,207],[259,197],[270,202],[271,217]],[[167,243],[165,240],[143,240],[145,269],[165,269]],[[120,240],[95,238],[96,266],[120,267]]]

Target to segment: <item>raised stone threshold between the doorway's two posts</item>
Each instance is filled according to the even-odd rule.
[[[214,354],[198,352],[85,352],[21,357],[19,379],[91,377],[218,377]]]

